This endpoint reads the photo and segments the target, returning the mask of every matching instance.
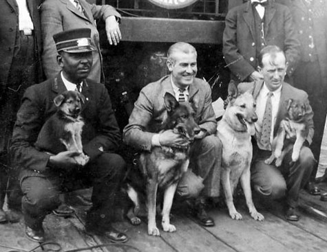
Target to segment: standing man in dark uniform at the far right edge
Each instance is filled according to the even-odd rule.
[[[294,85],[309,95],[315,123],[311,149],[319,160],[327,113],[327,3],[325,0],[294,0],[292,14],[301,42],[301,60],[294,72]],[[311,194],[319,194],[313,183],[308,189]]]

